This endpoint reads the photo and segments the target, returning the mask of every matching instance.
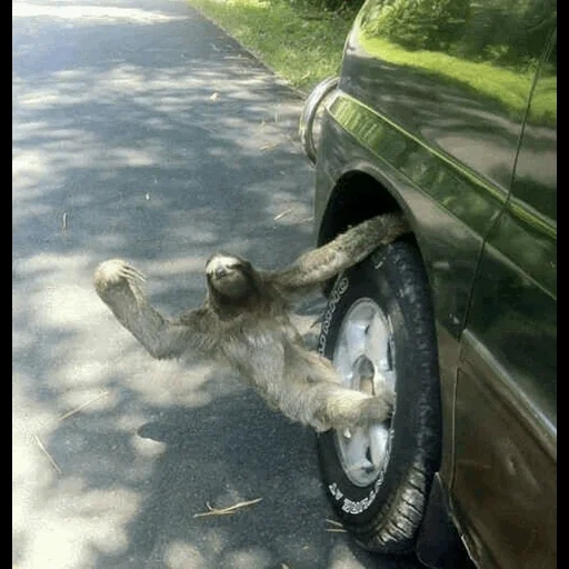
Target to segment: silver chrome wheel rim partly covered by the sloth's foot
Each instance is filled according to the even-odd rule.
[[[372,395],[385,381],[396,389],[393,331],[377,302],[363,298],[348,310],[332,361],[345,387]],[[353,485],[369,486],[383,471],[389,460],[390,431],[387,421],[369,429],[336,432],[343,471]]]

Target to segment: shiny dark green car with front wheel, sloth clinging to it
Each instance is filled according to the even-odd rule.
[[[557,567],[556,120],[549,0],[368,0],[306,102],[318,244],[412,227],[326,291],[320,352],[397,393],[388,425],[318,439],[367,549]]]

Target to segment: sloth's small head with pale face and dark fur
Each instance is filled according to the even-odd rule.
[[[251,263],[234,254],[216,253],[206,263],[210,297],[216,305],[240,303],[257,290]]]

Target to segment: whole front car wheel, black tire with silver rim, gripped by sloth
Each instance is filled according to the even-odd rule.
[[[345,386],[396,390],[392,418],[369,430],[318,436],[327,493],[356,541],[382,553],[412,550],[440,453],[435,321],[416,247],[397,241],[341,274],[318,350]]]

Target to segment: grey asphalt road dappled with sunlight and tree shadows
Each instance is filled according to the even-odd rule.
[[[270,268],[310,247],[300,98],[183,1],[12,9],[13,566],[415,567],[327,531],[310,431],[151,360],[91,284],[127,258],[173,315],[216,250]]]

